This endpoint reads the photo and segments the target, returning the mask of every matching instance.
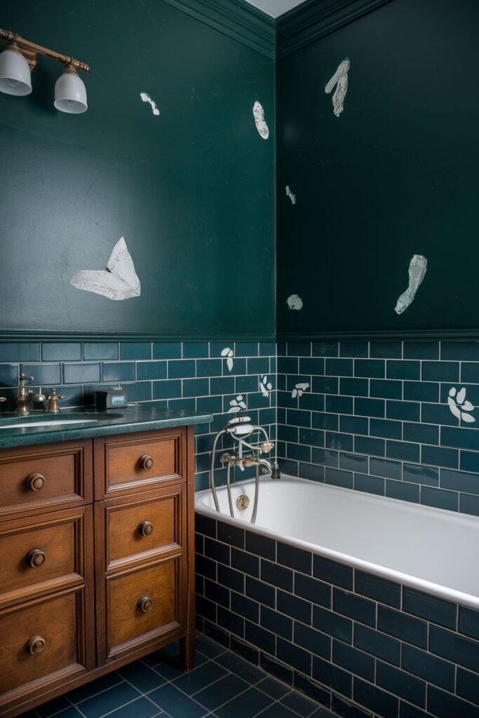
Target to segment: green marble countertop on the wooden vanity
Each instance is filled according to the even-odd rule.
[[[171,426],[190,426],[212,421],[200,411],[173,411],[154,406],[127,406],[121,409],[64,409],[60,414],[32,411],[24,417],[0,414],[0,449],[91,439],[113,434],[133,434]],[[55,422],[71,421],[70,424]],[[45,422],[45,426],[32,426]]]

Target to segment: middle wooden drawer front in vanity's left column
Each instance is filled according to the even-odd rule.
[[[0,605],[82,582],[91,516],[87,506],[0,523]]]

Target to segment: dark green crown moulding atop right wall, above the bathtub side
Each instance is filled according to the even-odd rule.
[[[307,0],[276,21],[276,57],[291,55],[386,2],[389,0]]]

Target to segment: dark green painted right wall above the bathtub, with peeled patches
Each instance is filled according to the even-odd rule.
[[[479,328],[478,27],[475,0],[392,0],[279,61],[279,335]],[[414,253],[427,274],[398,316]]]

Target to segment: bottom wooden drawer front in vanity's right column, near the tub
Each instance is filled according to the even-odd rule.
[[[107,656],[121,654],[179,629],[180,556],[107,579]]]

